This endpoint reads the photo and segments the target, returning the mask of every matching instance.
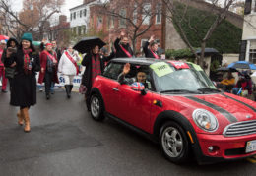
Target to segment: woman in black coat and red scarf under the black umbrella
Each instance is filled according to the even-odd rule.
[[[114,58],[114,52],[112,52],[108,57],[104,57],[99,54],[99,47],[96,45],[93,47],[91,53],[87,54],[82,61],[82,65],[86,66],[86,70],[83,75],[82,85],[86,86],[86,102],[87,108],[90,111],[90,94],[91,88],[95,81],[97,75],[101,75],[104,70],[105,62]]]

